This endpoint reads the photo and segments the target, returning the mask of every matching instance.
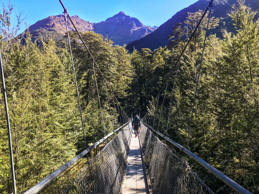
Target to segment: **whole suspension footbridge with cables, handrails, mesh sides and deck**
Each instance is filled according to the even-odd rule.
[[[159,132],[159,124],[161,119],[160,117],[156,120],[157,114],[157,105],[160,97],[161,91],[165,88],[167,90],[168,86],[168,79],[175,71],[176,68],[176,75],[174,79],[174,85],[172,88],[171,93],[171,102],[172,96],[174,92],[175,82],[177,78],[177,73],[179,69],[179,60],[182,57],[185,49],[187,48],[188,44],[190,43],[193,35],[195,34],[197,28],[199,27],[201,21],[205,17],[208,10],[208,24],[207,29],[211,17],[211,7],[213,0],[211,0],[208,4],[207,9],[204,11],[203,16],[201,17],[197,27],[195,28],[193,34],[190,36],[187,44],[185,45],[181,55],[178,57],[178,61],[176,62],[175,68],[173,68],[168,77],[165,79],[163,86],[161,87],[159,94],[157,95],[157,105],[155,114],[152,115],[147,113],[141,119],[141,126],[140,131],[137,137],[134,136],[133,129],[132,129],[132,118],[129,118],[123,108],[120,106],[116,96],[112,92],[111,87],[105,80],[102,72],[100,71],[95,59],[91,55],[89,48],[85,44],[80,32],[77,30],[72,18],[69,16],[67,9],[65,8],[64,4],[61,0],[59,0],[63,9],[64,9],[64,19],[66,29],[67,29],[67,37],[72,61],[72,67],[74,72],[74,79],[75,79],[75,86],[77,91],[78,97],[78,105],[79,111],[81,115],[81,123],[83,129],[83,136],[84,136],[84,145],[85,149],[83,152],[75,156],[73,159],[69,160],[66,164],[55,170],[53,173],[48,175],[46,178],[38,182],[32,188],[28,189],[24,194],[29,193],[48,193],[49,185],[55,184],[55,180],[62,176],[65,171],[71,169],[74,164],[80,161],[82,158],[86,158],[87,162],[80,170],[80,173],[77,175],[77,178],[72,182],[65,184],[62,186],[60,193],[94,193],[94,194],[108,194],[108,193],[121,193],[121,194],[131,194],[131,193],[154,193],[154,194],[167,194],[167,193],[214,193],[207,185],[206,180],[202,180],[190,167],[188,162],[186,162],[186,157],[189,156],[191,159],[196,161],[199,165],[203,168],[208,170],[211,174],[215,175],[219,178],[222,182],[228,185],[233,191],[237,193],[250,193],[246,189],[244,189],[241,185],[231,180],[229,177],[221,173],[216,168],[212,167],[210,164],[199,158],[197,155],[192,153],[188,150],[188,144],[190,139],[190,131],[191,131],[191,122],[192,122],[192,115],[193,109],[195,106],[196,94],[197,94],[197,87],[198,81],[200,76],[200,69],[202,65],[202,57],[200,60],[199,66],[199,73],[197,77],[197,84],[196,84],[196,91],[193,101],[192,107],[192,114],[190,119],[190,126],[189,126],[189,134],[187,139],[186,147],[179,145],[175,141],[171,140],[166,135]],[[73,61],[73,54],[70,46],[70,39],[67,27],[67,17],[69,18],[70,22],[72,23],[76,33],[78,34],[80,41],[86,48],[90,58],[92,58],[93,62],[93,71],[95,77],[95,84],[97,88],[100,112],[102,115],[102,123],[104,129],[104,137],[87,147],[87,142],[85,140],[85,130],[84,130],[84,123],[82,118],[82,111],[80,105],[80,98],[78,94],[77,82],[76,82],[76,73],[74,68],[74,61]],[[205,48],[207,30],[204,39],[204,46],[203,51]],[[10,131],[10,122],[9,122],[9,114],[8,114],[8,104],[7,104],[7,97],[6,97],[6,89],[5,89],[5,81],[4,81],[4,74],[3,74],[3,65],[2,65],[2,58],[0,53],[1,59],[1,78],[2,78],[2,86],[3,86],[3,94],[4,94],[4,102],[5,102],[5,110],[6,110],[6,121],[7,121],[7,129],[8,129],[8,137],[9,137],[9,150],[10,150],[10,161],[11,161],[11,173],[12,173],[12,182],[13,182],[13,193],[17,193],[16,191],[16,181],[15,181],[15,171],[13,165],[13,154],[12,154],[12,143],[11,143],[11,131]],[[107,93],[107,100],[109,103],[109,108],[111,111],[109,95],[107,92],[107,86],[110,92],[112,93],[112,101],[114,108],[118,110],[118,117],[117,117],[117,124],[121,124],[119,128],[112,131],[111,133],[106,135],[105,125],[103,120],[101,102],[98,93],[98,86],[96,81],[96,72],[95,68],[97,68],[98,73],[102,76],[105,81],[105,88]],[[165,93],[166,94],[166,93]],[[117,107],[116,107],[116,103]],[[163,104],[162,109],[164,105]],[[171,110],[171,102],[170,102],[170,109],[168,113],[168,120],[167,120],[167,129],[168,130],[168,121],[170,117],[170,110]],[[110,112],[111,113],[111,112]],[[117,112],[116,112],[117,115]],[[112,113],[111,113],[111,119]],[[154,129],[154,123],[158,121],[157,129]],[[112,123],[114,123],[112,121]],[[153,124],[153,126],[151,126]],[[113,137],[113,138],[112,138]],[[107,140],[110,141],[108,142]],[[162,142],[164,140],[164,142]],[[98,145],[102,142],[106,142],[104,148],[99,151],[94,157],[89,159],[88,154],[93,152]],[[170,145],[170,146],[169,146]],[[185,156],[185,160],[181,157],[177,156],[174,151],[172,151],[171,146],[179,149],[179,151],[183,152]]]

